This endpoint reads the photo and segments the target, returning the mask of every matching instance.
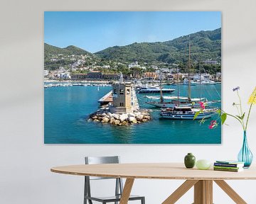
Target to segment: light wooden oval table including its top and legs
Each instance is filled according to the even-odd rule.
[[[58,166],[50,169],[55,173],[79,176],[102,176],[126,178],[120,204],[127,204],[134,179],[175,179],[186,180],[162,204],[176,203],[194,186],[194,204],[213,203],[213,181],[232,198],[235,203],[246,203],[224,180],[256,179],[255,166],[241,172],[186,169],[181,163],[153,164],[84,164]]]

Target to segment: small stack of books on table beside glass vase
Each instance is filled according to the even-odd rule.
[[[213,169],[215,171],[233,171],[239,172],[243,171],[244,162],[238,161],[216,161],[213,164]]]

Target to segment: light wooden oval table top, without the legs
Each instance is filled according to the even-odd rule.
[[[256,179],[256,166],[240,172],[186,169],[182,163],[82,164],[57,166],[50,171],[79,176],[129,179],[242,180]]]

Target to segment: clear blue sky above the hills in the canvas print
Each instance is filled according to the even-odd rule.
[[[219,11],[46,11],[44,41],[97,52],[134,42],[163,42],[221,27]]]

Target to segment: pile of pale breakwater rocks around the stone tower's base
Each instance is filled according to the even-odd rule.
[[[110,113],[107,111],[97,111],[89,116],[88,121],[109,123],[112,125],[129,125],[145,123],[151,120],[149,111],[137,111],[134,113]]]

